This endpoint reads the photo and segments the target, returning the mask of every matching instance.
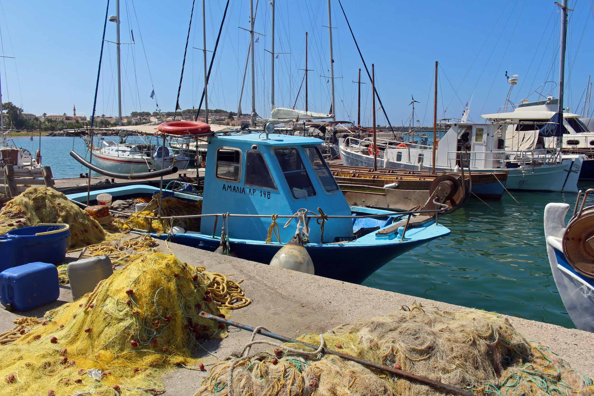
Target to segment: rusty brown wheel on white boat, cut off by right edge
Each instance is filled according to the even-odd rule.
[[[594,211],[583,213],[567,225],[563,254],[577,273],[594,279]]]

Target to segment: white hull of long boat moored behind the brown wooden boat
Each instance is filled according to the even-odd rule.
[[[347,166],[366,166],[373,167],[372,156],[357,153],[354,150],[340,145],[340,158],[343,164]],[[577,157],[577,156],[576,156]],[[471,172],[501,172],[507,170],[507,183],[505,188],[514,190],[532,190],[532,191],[564,191],[577,192],[577,178],[579,178],[582,159],[563,159],[559,164],[542,164],[541,166],[526,166],[517,168],[492,168],[492,169],[471,169]],[[396,162],[377,159],[378,167],[390,169],[407,170],[431,170],[431,166],[419,164]],[[454,172],[450,166],[435,166],[435,170],[440,172]]]

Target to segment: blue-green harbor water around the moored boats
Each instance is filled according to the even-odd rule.
[[[106,137],[107,140],[117,138]],[[39,137],[14,138],[34,153]],[[77,177],[87,169],[69,156],[85,153],[81,138],[42,137],[43,164],[54,178]],[[580,188],[592,187],[591,182]],[[470,199],[440,217],[451,235],[394,259],[365,286],[573,328],[551,275],[543,230],[549,202],[572,205],[576,194],[511,192],[501,201]],[[412,301],[411,301],[412,303]]]

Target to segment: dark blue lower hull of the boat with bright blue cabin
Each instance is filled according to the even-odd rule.
[[[412,230],[411,230],[412,231]],[[153,237],[166,240],[168,235],[152,234]],[[436,236],[437,237],[437,236]],[[434,238],[431,238],[434,239]],[[198,234],[175,234],[171,242],[192,248],[214,252],[219,247],[219,239]],[[429,242],[426,240],[403,241],[398,244],[361,245],[355,243],[324,244],[309,243],[305,247],[314,262],[315,274],[350,283],[362,283],[372,273],[379,270],[397,256]],[[269,264],[270,260],[282,248],[279,243],[234,242],[230,240],[231,251],[239,258]]]

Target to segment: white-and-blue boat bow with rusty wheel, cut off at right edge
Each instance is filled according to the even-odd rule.
[[[565,309],[577,328],[594,332],[594,205],[586,206],[589,195],[591,201],[594,189],[579,192],[567,225],[570,205],[546,205],[544,223],[546,252]]]

